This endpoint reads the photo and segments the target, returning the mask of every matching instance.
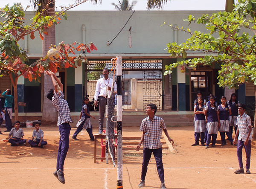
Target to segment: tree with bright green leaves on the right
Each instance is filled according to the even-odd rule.
[[[205,52],[206,55],[170,64],[166,66],[165,75],[172,73],[172,69],[177,66],[184,68],[186,65],[196,69],[198,64],[211,66],[215,63],[221,64],[221,70],[218,71],[220,87],[238,89],[244,83],[256,85],[256,0],[239,0],[232,12],[218,12],[212,16],[206,14],[197,19],[189,15],[185,20],[189,24],[204,24],[209,33],[177,28],[192,37],[180,45],[167,44],[168,52],[172,57],[183,58],[186,58],[188,51]]]

